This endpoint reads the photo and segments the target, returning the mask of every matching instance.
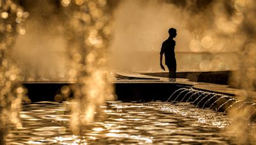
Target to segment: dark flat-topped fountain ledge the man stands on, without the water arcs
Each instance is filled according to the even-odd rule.
[[[148,99],[146,100],[165,100],[166,98],[170,97],[170,94],[172,94],[173,88],[175,87],[190,87],[196,90],[204,90],[212,93],[221,93],[223,95],[229,95],[234,97],[244,93],[244,90],[230,88],[228,85],[195,82],[189,81],[189,79],[186,78],[177,78],[174,81],[161,75],[156,76],[157,73],[155,73],[154,76],[149,76],[146,74],[147,73],[141,72],[116,73],[116,79],[115,81],[113,81],[113,85],[115,86],[116,93],[118,93],[116,95],[119,95],[118,98],[121,100],[136,100],[136,97],[141,96],[143,99],[146,99],[148,97]],[[159,72],[159,74],[161,74],[161,72]],[[56,93],[60,93],[60,88],[64,85],[71,84],[72,82],[23,82],[23,85],[28,88],[28,96],[33,102],[42,100],[54,101],[54,96],[56,95]],[[134,89],[136,91],[131,89]],[[138,92],[138,90],[145,90],[145,95],[143,95],[143,93],[140,93],[140,95],[132,95],[131,92]],[[151,95],[146,95],[148,94],[146,90],[148,92],[156,92],[156,95],[154,96],[157,97],[154,97],[152,95],[154,93],[151,93]],[[157,95],[157,92],[159,93],[159,95]],[[161,92],[166,92],[166,95],[161,95]],[[247,93],[248,99],[255,100],[254,98],[256,98],[256,92]],[[137,100],[141,100],[141,98],[138,97]]]

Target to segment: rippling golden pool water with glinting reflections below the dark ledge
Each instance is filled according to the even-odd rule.
[[[73,135],[68,102],[23,104],[22,127],[7,144],[230,144],[227,116],[190,104],[106,102],[97,120]]]

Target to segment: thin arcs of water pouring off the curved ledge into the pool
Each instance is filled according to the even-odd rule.
[[[184,93],[186,92],[186,93]],[[184,94],[184,95],[181,95]],[[173,99],[173,97],[175,97]],[[192,99],[192,97],[194,97]],[[188,98],[188,99],[186,99]],[[172,100],[173,99],[173,100]],[[177,102],[177,100],[179,100],[179,102],[190,102],[191,104],[195,105],[196,107],[209,107],[209,109],[214,109],[215,111],[223,111],[224,113],[227,113],[227,111],[230,110],[231,107],[237,105],[239,102],[241,102],[241,104],[239,104],[236,107],[236,110],[238,111],[239,109],[241,109],[242,107],[252,107],[255,105],[255,103],[253,102],[246,102],[243,100],[237,100],[233,97],[230,97],[228,95],[222,95],[220,93],[212,93],[212,92],[207,92],[207,91],[202,91],[202,90],[196,90],[193,88],[179,88],[178,90],[176,90],[175,92],[172,93],[172,95],[168,98],[168,100],[166,102]],[[250,104],[250,105],[246,105],[246,104]],[[253,107],[253,109],[246,109],[247,110],[247,118],[248,120],[253,120],[253,118],[255,118],[255,112],[256,109],[255,107]],[[250,111],[252,110],[252,111]]]

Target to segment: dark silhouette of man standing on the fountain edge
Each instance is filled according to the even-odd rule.
[[[175,59],[175,41],[173,38],[177,36],[177,31],[174,28],[170,28],[169,31],[169,38],[163,42],[161,52],[160,52],[160,66],[165,71],[164,66],[162,64],[163,54],[165,57],[165,64],[169,69],[169,78],[176,78],[176,59]]]

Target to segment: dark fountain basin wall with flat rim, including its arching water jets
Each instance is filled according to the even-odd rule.
[[[72,84],[74,83],[23,83],[28,88],[28,96],[32,102],[55,101],[54,96],[60,94],[61,87]],[[237,101],[236,95],[239,93],[239,90],[228,88],[228,85],[193,82],[184,78],[169,80],[168,78],[130,72],[116,74],[113,86],[115,86],[117,100],[122,100],[122,102],[181,101],[191,102],[198,107],[210,107],[216,111],[223,112]],[[176,92],[180,89],[184,90]],[[58,102],[63,100],[65,99],[61,99]],[[253,100],[251,101],[253,102]]]

